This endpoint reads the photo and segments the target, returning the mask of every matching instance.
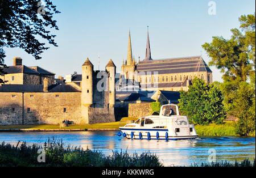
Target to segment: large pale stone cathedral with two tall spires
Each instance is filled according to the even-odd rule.
[[[127,59],[122,63],[119,88],[138,86],[146,91],[187,91],[196,77],[212,83],[212,71],[201,56],[153,60],[148,31],[146,56],[137,62],[133,57],[129,31]]]

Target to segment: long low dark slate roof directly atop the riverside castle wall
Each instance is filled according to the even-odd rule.
[[[0,92],[43,92],[43,84],[3,84]],[[69,84],[52,84],[48,92],[81,92]]]

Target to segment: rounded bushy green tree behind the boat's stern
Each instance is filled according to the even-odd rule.
[[[195,124],[221,124],[226,117],[222,101],[221,91],[216,85],[207,85],[204,80],[195,78],[188,91],[181,91],[179,108]]]

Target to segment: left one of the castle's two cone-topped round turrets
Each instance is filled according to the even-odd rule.
[[[81,115],[82,121],[89,123],[89,108],[93,104],[93,64],[89,58],[82,65],[82,95]]]

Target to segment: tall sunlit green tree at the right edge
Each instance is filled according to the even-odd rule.
[[[248,135],[255,132],[255,13],[239,21],[240,29],[231,29],[230,39],[214,36],[203,48],[209,64],[224,73],[220,89],[225,110],[239,118],[236,133]]]

